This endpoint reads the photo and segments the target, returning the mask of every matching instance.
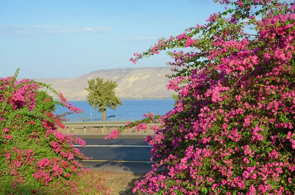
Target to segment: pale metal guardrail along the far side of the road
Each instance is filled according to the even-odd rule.
[[[125,125],[126,121],[100,121],[100,122],[63,122],[62,124],[66,127],[67,134],[70,134],[69,128],[72,131],[75,130],[75,127],[83,127],[84,134],[87,134],[86,127],[102,127],[101,133],[104,134],[105,127],[122,127]],[[157,123],[149,123],[147,126],[158,125]],[[142,133],[142,130],[139,132]]]

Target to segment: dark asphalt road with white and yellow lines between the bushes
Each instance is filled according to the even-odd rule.
[[[78,147],[91,160],[83,161],[84,167],[98,171],[147,173],[151,170],[151,146],[143,136],[120,136],[116,140],[105,140],[105,136],[80,138],[87,147]]]

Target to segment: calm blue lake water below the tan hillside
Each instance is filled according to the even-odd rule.
[[[108,109],[106,117],[116,115],[115,117],[106,118],[106,121],[134,121],[143,119],[143,114],[148,112],[159,113],[165,115],[168,111],[173,109],[174,99],[147,99],[147,100],[121,100],[123,105],[117,110]],[[83,114],[72,114],[66,118],[70,121],[81,121],[83,119],[90,119],[92,113],[92,121],[100,121],[101,113],[98,113],[91,108],[87,101],[69,101],[73,105],[81,108]],[[67,109],[62,106],[57,106],[56,114],[67,112]]]

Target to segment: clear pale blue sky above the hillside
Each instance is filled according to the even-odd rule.
[[[162,36],[205,24],[213,0],[0,0],[0,77],[71,78],[100,69],[166,66],[165,52],[129,62]]]

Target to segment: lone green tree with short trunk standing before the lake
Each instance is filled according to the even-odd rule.
[[[96,82],[95,82],[96,81]],[[123,105],[122,102],[115,94],[117,87],[116,81],[107,80],[103,82],[102,78],[97,77],[96,80],[88,80],[89,87],[85,90],[89,91],[87,100],[98,113],[102,112],[102,121],[105,121],[105,112],[107,108],[116,110],[119,105]]]

